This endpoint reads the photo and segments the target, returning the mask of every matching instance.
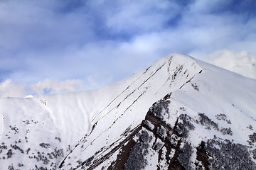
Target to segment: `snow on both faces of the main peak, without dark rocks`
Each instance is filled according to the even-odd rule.
[[[252,147],[248,145],[247,141],[249,141],[250,135],[255,134],[253,132],[256,128],[256,109],[254,105],[256,81],[194,60],[188,56],[174,55],[173,58],[171,56],[164,57],[152,64],[151,67],[157,71],[156,74],[152,72],[153,74],[146,75],[143,78],[146,79],[143,83],[138,79],[137,84],[127,87],[127,89],[132,89],[132,95],[136,96],[135,101],[133,101],[133,97],[129,101],[129,93],[128,95],[124,94],[123,97],[121,94],[118,96],[117,102],[113,101],[110,106],[105,108],[102,116],[95,118],[100,117],[98,120],[92,121],[95,123],[95,128],[90,135],[85,137],[85,140],[78,143],[78,146],[69,154],[69,159],[65,159],[63,165],[66,166],[62,166],[63,169],[69,169],[70,167],[102,169],[102,167],[109,167],[113,162],[117,164],[118,155],[124,149],[122,145],[126,142],[128,145],[132,140],[139,141],[134,132],[143,132],[141,130],[143,127],[139,126],[150,111],[151,103],[154,103],[154,100],[156,101],[159,97],[164,98],[166,94],[170,96],[166,100],[170,103],[166,104],[166,115],[163,115],[161,120],[174,130],[178,119],[181,119],[180,116],[189,115],[188,118],[193,122],[192,125],[195,124],[193,125],[195,128],[183,140],[189,142],[190,145],[199,146],[204,139],[220,138]],[[157,74],[158,72],[159,74]],[[143,74],[142,77],[144,77]],[[157,96],[157,94],[160,95]],[[128,98],[126,98],[127,96]],[[120,97],[124,98],[121,103],[119,103]],[[127,106],[129,107],[127,108]],[[204,115],[207,118],[206,122],[201,120]],[[200,120],[202,123],[197,123]],[[157,131],[156,126],[154,125],[153,129]],[[133,135],[134,138],[127,140],[129,135]],[[151,135],[154,138],[152,132]],[[155,145],[154,140],[157,143],[156,138],[151,140],[150,145],[152,147]],[[164,142],[164,140],[162,139],[161,142]],[[254,144],[252,145],[254,146]],[[129,152],[131,150],[132,147]],[[145,169],[159,167],[159,161],[157,161],[159,154],[154,154],[153,150],[151,149],[151,153],[154,156],[151,154],[151,157],[156,158],[150,159],[147,157],[145,160],[147,160],[148,166],[141,167]],[[250,149],[250,151],[255,150]],[[194,165],[197,163],[196,151],[193,151],[193,153],[191,162]],[[75,166],[72,164],[74,160],[78,162]],[[255,162],[255,159],[253,161]],[[70,167],[68,164],[70,164]],[[191,167],[196,169],[195,166]],[[161,167],[161,169],[164,169],[164,167]]]

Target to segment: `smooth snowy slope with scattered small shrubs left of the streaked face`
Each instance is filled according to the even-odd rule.
[[[19,167],[21,169],[33,169],[36,165],[44,167],[45,164],[49,167],[51,163],[51,168],[54,165],[57,167],[60,158],[92,129],[92,116],[102,111],[107,102],[122,90],[115,84],[112,88],[107,86],[97,91],[34,98],[1,98],[0,169],[7,169],[11,163],[14,167],[23,164]],[[42,143],[50,145],[41,147]],[[22,150],[11,145],[17,145]],[[7,159],[9,149],[14,154]],[[38,157],[48,157],[48,153],[56,154],[55,149],[60,153],[58,156],[49,159],[49,162],[38,161]]]

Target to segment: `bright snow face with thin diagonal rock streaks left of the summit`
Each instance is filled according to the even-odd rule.
[[[171,91],[178,90],[201,72],[201,67],[193,58],[186,55],[176,57],[173,55],[163,57],[142,72],[134,74],[132,78],[136,78],[132,81],[128,79],[129,84],[122,88],[124,91],[116,96],[104,111],[92,119],[95,128],[86,137],[86,142],[85,140],[80,142],[82,147],[76,147],[73,150],[73,157],[70,155],[71,158],[67,160],[67,164],[76,157],[78,157],[77,161],[81,159],[80,157],[82,159],[92,157],[95,152],[102,149],[102,145],[105,148],[110,147],[109,149],[119,145],[119,142],[125,138],[122,134],[127,131],[127,128],[129,130],[136,128],[155,101]],[[109,150],[107,149],[106,152]]]

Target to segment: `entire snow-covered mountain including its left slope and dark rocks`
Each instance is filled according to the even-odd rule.
[[[181,54],[95,91],[0,100],[0,169],[256,169],[256,80]]]

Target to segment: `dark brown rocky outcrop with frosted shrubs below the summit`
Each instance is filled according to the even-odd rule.
[[[169,112],[170,96],[168,94],[154,103],[142,123],[127,132],[129,135],[121,142],[122,145],[109,153],[119,151],[117,159],[109,166],[102,166],[102,169],[152,169],[151,165],[155,162],[156,169],[256,169],[255,150],[247,145],[217,137],[202,140],[198,146],[191,143],[188,136],[195,130],[195,125],[232,135],[223,132],[218,123],[203,113],[198,113],[197,119],[194,119],[186,115],[184,107],[179,108],[185,113],[179,115],[174,127],[171,127],[169,119],[166,119],[173,114]],[[87,166],[77,168],[94,169],[100,163],[103,162],[92,159],[90,164],[81,164]]]

